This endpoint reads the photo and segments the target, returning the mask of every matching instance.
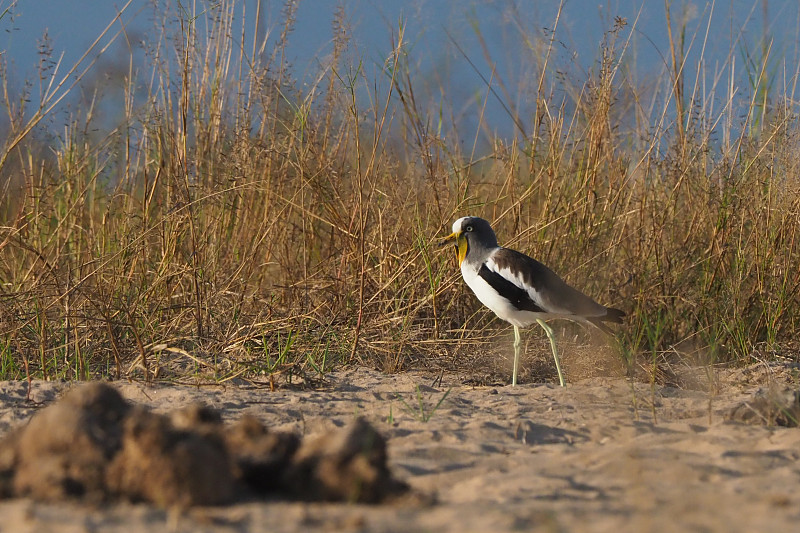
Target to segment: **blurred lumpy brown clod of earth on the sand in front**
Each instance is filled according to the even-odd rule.
[[[0,497],[220,505],[269,495],[380,503],[409,492],[386,441],[363,419],[301,441],[202,405],[170,416],[106,383],[78,387],[0,442]]]

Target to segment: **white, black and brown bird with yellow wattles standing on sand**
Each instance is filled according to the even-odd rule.
[[[514,326],[514,369],[511,385],[517,384],[519,329],[538,323],[550,339],[558,381],[566,387],[552,328],[545,322],[562,318],[591,324],[608,335],[605,322],[622,323],[625,313],[606,307],[568,285],[558,274],[527,255],[503,248],[491,225],[479,217],[461,217],[453,233],[441,239],[440,247],[453,244],[464,282],[483,305]]]

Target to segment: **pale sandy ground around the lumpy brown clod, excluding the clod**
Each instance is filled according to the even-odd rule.
[[[260,501],[179,511],[16,499],[0,502],[0,532],[727,532],[800,523],[800,429],[730,420],[769,388],[797,390],[788,365],[720,372],[713,395],[620,378],[566,389],[471,386],[447,375],[434,382],[357,369],[313,391],[117,386],[157,411],[202,401],[226,420],[248,412],[302,435],[365,416],[388,438],[394,474],[436,503]],[[25,383],[0,382],[0,433],[73,386],[36,382],[32,405]]]

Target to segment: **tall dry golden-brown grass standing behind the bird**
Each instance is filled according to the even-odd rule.
[[[535,112],[509,104],[517,127],[495,137],[481,105],[465,133],[446,95],[420,96],[402,24],[372,78],[340,11],[333,54],[301,85],[284,57],[295,3],[276,47],[243,42],[235,9],[157,20],[146,65],[123,69],[115,127],[89,95],[44,133],[124,38],[114,23],[74,67],[43,57],[22,94],[4,81],[0,379],[285,382],[468,362],[507,328],[433,247],[466,214],[628,312],[628,363],[796,357],[798,71],[769,42],[689,64],[708,34],[667,7],[660,79],[636,81],[623,19],[581,78],[555,60],[555,20],[519,43]],[[732,81],[743,70],[749,86]],[[516,90],[486,82],[484,101]]]

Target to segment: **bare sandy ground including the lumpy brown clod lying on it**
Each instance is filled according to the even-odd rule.
[[[35,382],[36,403],[26,384],[2,382],[0,531],[788,531],[800,520],[789,364],[717,371],[710,391],[438,377],[358,369],[275,392]]]

